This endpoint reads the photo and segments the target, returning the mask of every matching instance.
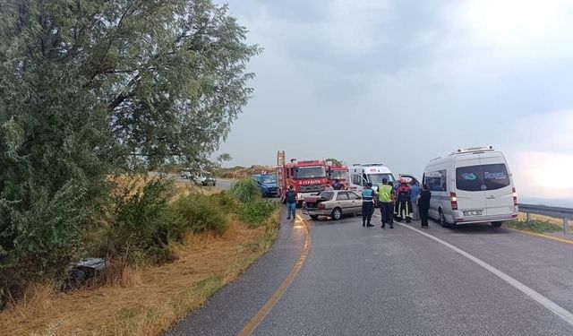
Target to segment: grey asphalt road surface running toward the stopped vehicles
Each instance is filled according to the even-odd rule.
[[[489,225],[306,220],[308,257],[252,335],[573,335],[573,245]],[[167,335],[240,332],[296,263],[301,224],[284,220],[268,254]]]

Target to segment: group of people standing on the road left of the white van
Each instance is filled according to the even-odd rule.
[[[428,185],[420,188],[415,181],[408,184],[405,178],[400,178],[396,187],[392,181],[382,179],[378,193],[372,189],[372,183],[368,183],[362,192],[362,226],[373,227],[372,214],[374,206],[378,203],[382,217],[381,228],[386,228],[386,224],[389,228],[394,228],[394,218],[398,221],[406,220],[407,223],[411,220],[421,220],[422,228],[428,228],[431,197]]]

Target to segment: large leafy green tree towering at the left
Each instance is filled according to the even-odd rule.
[[[10,287],[6,274],[27,276],[17,265],[51,274],[81,252],[108,174],[209,163],[252,94],[245,65],[260,49],[210,0],[0,8],[0,287]]]

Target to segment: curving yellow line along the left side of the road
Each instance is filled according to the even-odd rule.
[[[267,303],[264,304],[264,306],[262,306],[261,309],[259,309],[257,314],[252,316],[251,321],[249,321],[248,323],[245,324],[243,330],[241,332],[237,333],[237,336],[249,336],[252,334],[252,332],[254,332],[257,325],[259,325],[259,323],[261,323],[262,320],[264,320],[264,318],[267,316],[267,314],[269,314],[270,310],[273,308],[273,306],[275,306],[277,304],[280,297],[282,297],[283,294],[285,294],[286,289],[288,289],[288,287],[293,283],[298,272],[301,271],[301,268],[303,267],[304,261],[306,261],[306,256],[308,255],[308,252],[311,249],[311,234],[309,232],[308,224],[306,224],[306,221],[304,221],[303,218],[300,217],[300,215],[297,215],[296,219],[299,221],[302,221],[304,224],[306,237],[304,238],[303,252],[301,252],[301,255],[298,257],[298,260],[296,261],[292,270],[286,276],[283,283],[278,287],[278,289],[269,298],[269,301],[267,301]]]

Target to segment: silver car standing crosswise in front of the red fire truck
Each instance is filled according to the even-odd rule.
[[[303,213],[318,220],[319,216],[329,216],[340,220],[348,214],[362,213],[362,197],[349,190],[328,190],[315,196],[304,197]]]

